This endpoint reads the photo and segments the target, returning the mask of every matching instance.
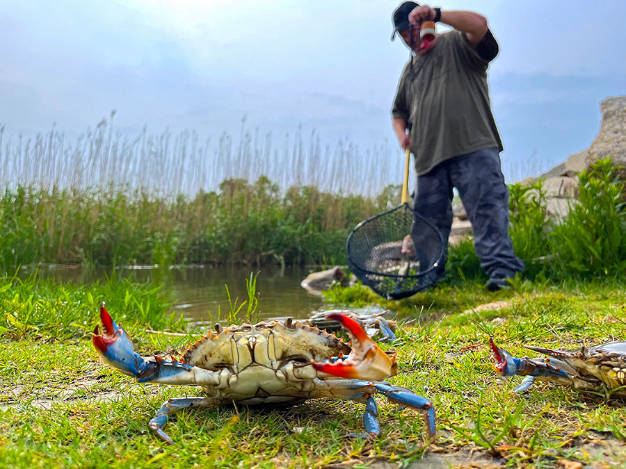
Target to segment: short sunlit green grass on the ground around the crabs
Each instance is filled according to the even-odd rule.
[[[26,282],[3,290],[3,301],[27,297],[26,288],[39,297],[32,301],[47,302],[47,316],[29,318],[37,327],[19,334],[8,324],[0,338],[1,467],[311,467],[342,461],[406,464],[422,457],[513,467],[554,467],[558,459],[600,467],[626,463],[623,400],[540,382],[527,397],[513,395],[520,379],[505,384],[497,378],[487,345],[490,334],[513,354],[524,354],[524,343],[579,347],[623,340],[626,286],[618,281],[517,281],[498,293],[469,283],[439,286],[397,302],[398,339],[383,347],[397,351],[400,372],[392,383],[435,403],[438,439],[430,445],[419,413],[380,397],[382,435],[376,441],[345,436],[362,430],[362,404],[311,400],[289,410],[182,411],[165,427],[177,443],[168,447],[147,429],[148,420],[166,399],[199,395],[199,390],[136,384],[97,361],[87,333],[95,325],[100,297],[130,287],[114,281],[83,286],[75,296],[65,295],[74,298],[74,306],[65,308],[52,301],[62,296],[53,286],[45,290]],[[161,322],[157,314],[150,319],[152,327],[186,330],[163,315],[166,297],[147,286],[134,288],[124,315],[138,352],[182,349],[191,338],[149,334],[141,324],[139,299],[146,304],[149,298],[150,308],[161,311]],[[362,287],[344,292],[351,300],[372,300]],[[93,304],[87,304],[89,294]],[[110,310],[118,318],[124,301],[121,295],[116,301]],[[508,304],[497,311],[476,308],[494,301]],[[78,306],[83,302],[87,307]],[[82,311],[72,323],[84,327],[70,325],[59,336],[67,311]],[[471,459],[465,459],[470,450]]]

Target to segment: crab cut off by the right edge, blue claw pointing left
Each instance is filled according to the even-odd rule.
[[[626,340],[609,342],[579,350],[527,349],[540,352],[549,358],[521,359],[512,356],[489,338],[491,361],[501,376],[525,376],[515,392],[531,387],[535,379],[554,381],[582,390],[608,390],[609,395],[626,397]]]

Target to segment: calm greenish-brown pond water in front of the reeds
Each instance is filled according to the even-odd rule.
[[[22,268],[20,272],[24,276],[29,275],[33,268]],[[273,266],[260,269],[192,266],[170,270],[141,267],[116,270],[116,274],[133,281],[162,283],[171,293],[175,310],[194,321],[225,318],[230,311],[225,285],[228,286],[232,302],[235,299],[238,299],[237,304],[247,301],[246,279],[250,279],[250,274],[257,274],[257,312],[262,319],[287,316],[302,319],[310,317],[313,311],[332,308],[332,304],[324,302],[321,294],[308,293],[300,286],[300,281],[309,273],[307,268],[281,269]],[[39,278],[74,283],[87,283],[110,275],[110,269],[87,272],[73,266],[56,265],[40,266],[38,272]],[[244,311],[246,306],[242,308]]]

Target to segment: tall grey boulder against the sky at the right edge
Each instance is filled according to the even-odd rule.
[[[609,157],[616,165],[626,166],[626,96],[603,99],[600,108],[600,132],[589,147],[585,163],[588,167]],[[620,170],[619,174],[620,179],[626,179],[626,170]]]

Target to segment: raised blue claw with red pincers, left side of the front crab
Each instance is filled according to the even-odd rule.
[[[151,372],[151,365],[133,350],[133,342],[122,326],[116,324],[104,302],[100,305],[100,321],[102,334],[98,326],[93,330],[91,338],[93,346],[102,359],[126,375],[143,377]]]

